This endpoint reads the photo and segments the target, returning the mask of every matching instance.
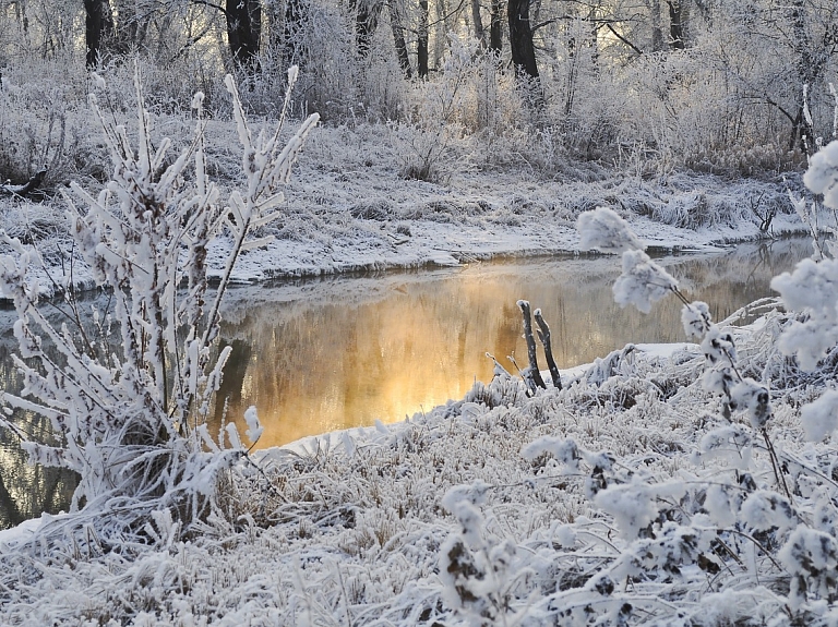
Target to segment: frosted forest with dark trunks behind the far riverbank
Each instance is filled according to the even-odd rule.
[[[3,0],[0,176],[104,180],[87,69],[125,111],[129,59],[153,113],[189,116],[201,91],[219,119],[225,73],[271,118],[297,64],[294,112],[390,125],[410,146],[407,178],[464,160],[799,171],[835,133],[837,48],[831,0]]]

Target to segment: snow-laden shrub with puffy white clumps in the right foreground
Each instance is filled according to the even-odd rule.
[[[635,260],[642,245],[616,214],[598,208],[578,224],[586,245],[622,252],[618,299],[646,311],[669,292],[682,300],[684,330],[701,341],[705,358],[704,374],[690,386],[703,388],[720,405],[717,415],[705,412],[693,435],[693,469],[665,472],[653,461],[661,458],[659,449],[639,458],[620,457],[589,450],[568,436],[547,435],[526,445],[522,455],[534,466],[534,481],[585,495],[595,516],[563,526],[566,540],[553,541],[552,559],[573,565],[577,580],[539,601],[538,614],[522,605],[524,595],[512,606],[526,607],[520,611],[534,624],[751,625],[773,613],[779,616],[777,624],[830,624],[838,550],[833,535],[835,483],[825,470],[834,467],[835,450],[813,457],[776,446],[778,437],[790,443],[778,425],[790,406],[788,396],[771,389],[766,378],[774,371],[764,369],[761,381],[743,375],[754,366],[741,362],[737,334],[714,324],[707,305],[689,302],[674,279],[650,260],[642,260],[639,272]],[[807,313],[799,322],[786,322],[778,341],[779,350],[801,355],[804,369],[816,367],[838,343],[838,297],[830,276],[828,261],[806,261],[794,275],[775,281],[787,306]],[[763,326],[769,324],[766,319]],[[801,334],[810,340],[801,342]],[[774,341],[777,336],[762,337]],[[592,385],[607,383],[600,377]],[[591,385],[587,379],[577,385],[584,384]],[[810,437],[819,439],[838,426],[836,398],[830,390],[803,407]],[[776,401],[782,401],[781,409],[775,409]],[[470,505],[463,507],[472,511]],[[453,535],[448,543],[460,545]],[[744,596],[725,612],[704,610],[737,593]]]

